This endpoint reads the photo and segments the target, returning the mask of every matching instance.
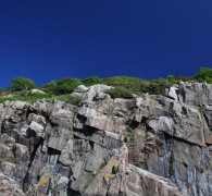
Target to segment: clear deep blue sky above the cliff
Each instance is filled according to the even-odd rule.
[[[1,0],[0,87],[25,76],[191,76],[212,66],[211,0]]]

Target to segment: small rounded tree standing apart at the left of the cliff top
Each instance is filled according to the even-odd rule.
[[[13,78],[11,79],[11,84],[12,85],[9,87],[11,91],[30,90],[37,87],[34,81],[26,77]]]

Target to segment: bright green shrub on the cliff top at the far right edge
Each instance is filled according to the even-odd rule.
[[[195,75],[195,78],[200,83],[212,84],[212,69],[200,68],[200,71]]]

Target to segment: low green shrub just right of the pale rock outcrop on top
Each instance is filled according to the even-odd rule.
[[[121,86],[108,89],[104,93],[109,94],[113,99],[115,99],[115,98],[125,98],[125,99],[133,98],[133,90],[126,89],[126,88],[121,87]]]

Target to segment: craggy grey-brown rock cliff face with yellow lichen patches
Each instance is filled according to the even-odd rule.
[[[78,87],[78,107],[0,105],[0,195],[212,195],[212,85],[130,100],[108,88]]]

